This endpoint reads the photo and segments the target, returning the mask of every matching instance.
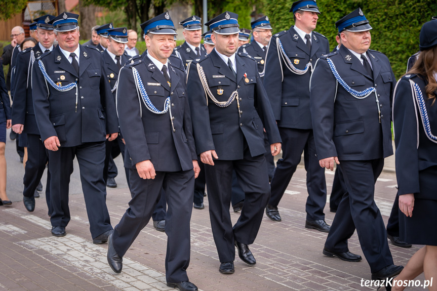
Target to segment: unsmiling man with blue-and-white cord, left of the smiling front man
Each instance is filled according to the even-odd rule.
[[[52,235],[66,234],[68,184],[76,157],[93,242],[103,243],[112,230],[103,180],[105,140],[117,137],[118,120],[102,54],[79,45],[77,18],[64,12],[49,22],[58,46],[33,64],[33,107],[49,150]]]

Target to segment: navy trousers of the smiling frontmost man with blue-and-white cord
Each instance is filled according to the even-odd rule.
[[[114,228],[112,241],[116,253],[122,257],[126,254],[149,222],[164,188],[168,205],[166,279],[172,283],[188,281],[194,172],[156,172],[155,179],[142,179],[136,169],[130,169],[129,179],[133,196],[129,208]]]

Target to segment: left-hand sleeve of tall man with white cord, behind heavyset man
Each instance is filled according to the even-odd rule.
[[[281,120],[281,98],[283,67],[281,56],[276,46],[276,38],[271,37],[267,48],[264,67],[264,88],[270,100],[275,120]]]

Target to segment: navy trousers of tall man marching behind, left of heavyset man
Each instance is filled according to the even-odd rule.
[[[320,167],[312,130],[280,127],[279,132],[282,139],[282,158],[276,162],[276,170],[270,182],[271,197],[268,204],[277,206],[281,201],[294,172],[296,172],[303,151],[306,188],[308,191],[305,206],[306,219],[324,220],[325,213],[323,210],[326,204],[325,169]]]

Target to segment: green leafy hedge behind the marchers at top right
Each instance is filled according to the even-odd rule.
[[[288,30],[294,24],[288,11],[292,0],[263,0],[264,13],[269,17],[273,32]],[[337,45],[335,22],[361,7],[373,27],[372,50],[387,55],[396,78],[407,68],[408,58],[419,50],[422,24],[437,14],[435,0],[317,0],[321,15],[316,31],[328,37],[331,50]]]

